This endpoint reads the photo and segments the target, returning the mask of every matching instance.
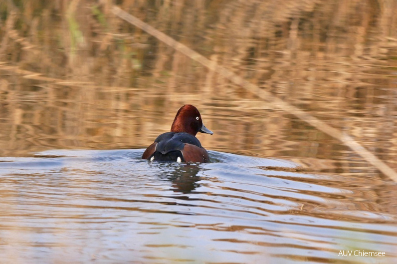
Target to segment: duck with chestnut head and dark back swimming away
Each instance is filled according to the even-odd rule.
[[[195,137],[198,132],[214,134],[203,124],[197,108],[182,106],[171,125],[171,131],[159,135],[143,152],[142,159],[169,162],[209,162],[207,150]]]

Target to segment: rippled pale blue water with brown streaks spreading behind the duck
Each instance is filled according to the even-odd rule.
[[[370,198],[376,188],[362,179],[305,173],[287,160],[211,151],[213,163],[161,164],[142,152],[3,159],[8,259],[329,262],[346,260],[338,253],[348,249],[397,257],[397,207],[384,208],[395,184],[378,180]]]

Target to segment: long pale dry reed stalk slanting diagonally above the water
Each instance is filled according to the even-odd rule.
[[[351,136],[339,131],[336,128],[333,128],[326,123],[320,121],[319,119],[315,118],[314,116],[307,114],[302,109],[295,107],[283,100],[273,96],[271,93],[261,89],[257,85],[254,85],[243,78],[239,77],[232,71],[225,69],[224,67],[218,65],[217,63],[207,59],[203,55],[191,50],[187,46],[175,41],[171,37],[165,35],[164,33],[156,30],[155,28],[149,26],[148,24],[142,22],[141,20],[137,19],[136,17],[126,13],[125,11],[121,10],[118,7],[113,7],[113,14],[118,16],[119,18],[127,21],[128,23],[134,25],[135,27],[145,31],[146,33],[150,34],[151,36],[157,38],[159,41],[162,41],[166,45],[174,48],[178,52],[186,55],[190,59],[202,64],[203,66],[207,67],[211,71],[217,72],[218,74],[222,75],[223,77],[227,78],[231,82],[247,89],[254,95],[258,96],[259,98],[265,100],[270,106],[274,107],[275,109],[279,109],[282,111],[289,112],[299,118],[300,120],[312,125],[316,129],[322,131],[325,134],[330,135],[333,138],[336,138],[343,142],[346,146],[352,149],[355,153],[360,155],[364,158],[368,163],[373,165],[379,171],[381,171],[384,175],[389,177],[391,180],[397,182],[397,173],[390,168],[386,163],[376,157],[374,154],[366,150],[360,143],[355,141]]]

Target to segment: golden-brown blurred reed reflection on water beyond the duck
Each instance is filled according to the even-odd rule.
[[[43,146],[147,146],[169,130],[169,109],[189,102],[218,132],[201,138],[210,149],[353,159],[323,133],[113,18],[109,3],[95,12],[94,1],[74,2],[75,9],[62,1],[10,3],[0,6],[8,14],[0,24],[3,155]],[[394,163],[395,4],[172,3],[122,1],[120,7]],[[74,48],[72,60],[77,29],[85,46]],[[10,64],[17,68],[3,68]],[[62,80],[73,84],[57,84]]]

